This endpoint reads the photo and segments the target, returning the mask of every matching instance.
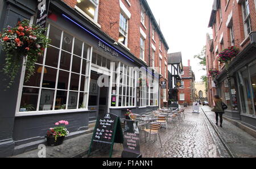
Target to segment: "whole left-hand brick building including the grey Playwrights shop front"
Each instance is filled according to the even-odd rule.
[[[36,148],[62,119],[73,137],[102,113],[123,118],[127,108],[139,114],[167,106],[168,91],[160,83],[168,86],[169,47],[146,0],[3,0],[1,30],[24,18],[35,23],[44,2],[50,48],[29,82],[24,83],[24,66],[10,90],[1,82],[0,157]],[[2,66],[2,50],[0,56]]]

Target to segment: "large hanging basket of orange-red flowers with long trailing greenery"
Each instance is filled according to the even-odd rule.
[[[18,73],[20,62],[25,59],[25,82],[35,73],[35,62],[43,56],[44,48],[48,47],[50,40],[44,35],[47,28],[30,25],[30,21],[24,19],[11,28],[7,27],[0,33],[0,45],[6,52],[3,73],[10,79],[9,86],[14,82]]]

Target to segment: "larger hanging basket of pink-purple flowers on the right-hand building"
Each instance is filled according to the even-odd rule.
[[[237,47],[229,47],[227,49],[222,50],[218,54],[218,61],[221,63],[229,63],[232,58],[236,57],[237,54],[239,53],[239,49]]]

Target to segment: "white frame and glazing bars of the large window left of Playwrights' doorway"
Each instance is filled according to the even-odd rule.
[[[92,50],[93,47],[90,46],[89,44],[87,44],[84,40],[78,39],[75,35],[73,35],[71,32],[67,32],[63,29],[61,29],[60,27],[56,26],[56,24],[53,24],[51,22],[47,23],[48,25],[48,29],[47,29],[47,37],[49,37],[49,32],[51,31],[51,26],[55,27],[57,29],[60,29],[61,31],[61,39],[60,39],[60,44],[59,47],[55,47],[52,44],[49,44],[49,47],[53,48],[53,49],[57,49],[59,52],[59,56],[57,56],[58,58],[58,63],[57,63],[57,67],[52,67],[46,64],[46,57],[47,57],[47,50],[48,48],[46,48],[44,50],[44,54],[43,54],[43,62],[42,64],[40,63],[35,63],[35,65],[39,65],[42,66],[42,70],[45,70],[45,68],[48,67],[48,69],[54,69],[56,70],[56,77],[55,77],[55,87],[51,88],[51,87],[43,87],[43,79],[44,79],[44,71],[40,72],[40,84],[39,87],[38,86],[26,86],[26,84],[24,84],[24,77],[25,77],[25,70],[26,70],[26,66],[22,66],[22,73],[21,73],[21,77],[20,77],[20,86],[19,86],[19,92],[18,92],[18,102],[16,103],[16,111],[15,111],[15,116],[26,116],[26,115],[45,115],[45,114],[55,114],[55,113],[65,113],[65,112],[74,112],[74,111],[86,111],[88,110],[88,97],[89,97],[89,87],[86,87],[86,90],[82,91],[81,90],[81,79],[82,77],[85,78],[85,82],[84,82],[84,86],[89,86],[90,83],[90,69],[91,69],[91,60],[92,60]],[[71,52],[68,52],[67,50],[63,49],[63,36],[64,33],[67,33],[68,35],[70,35],[72,37],[72,50]],[[79,40],[82,42],[82,49],[81,49],[81,55],[77,56],[75,53],[73,53],[73,47],[75,46],[75,40]],[[84,47],[88,47],[86,49],[86,58],[84,58]],[[69,63],[69,70],[64,70],[60,67],[61,65],[61,53],[68,53],[71,54],[71,62]],[[80,58],[80,73],[76,73],[75,71],[72,70],[73,65],[72,65],[72,60],[74,57],[79,57]],[[82,61],[86,61],[86,68],[85,68],[85,74],[82,74]],[[67,89],[61,89],[58,88],[58,81],[59,81],[59,72],[60,71],[65,71],[69,74],[68,77],[68,87]],[[70,88],[70,84],[71,84],[71,76],[72,74],[77,74],[79,75],[79,88],[77,90],[71,90]],[[38,98],[37,98],[37,102],[36,102],[36,109],[35,111],[20,111],[21,108],[21,101],[22,101],[22,95],[23,95],[23,88],[36,88],[38,89]],[[42,99],[42,90],[51,90],[53,91],[53,101],[52,101],[52,109],[50,110],[39,110],[40,108],[40,100]],[[57,98],[57,91],[64,91],[67,92],[67,100],[65,103],[65,109],[55,109],[56,107],[56,98]],[[77,92],[77,100],[76,100],[76,108],[75,109],[68,109],[68,104],[69,104],[69,94],[70,92]],[[86,96],[84,96],[84,102],[85,105],[82,108],[79,108],[79,99],[80,99],[80,94],[85,94]]]

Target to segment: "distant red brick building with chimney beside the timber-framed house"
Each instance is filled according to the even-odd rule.
[[[177,96],[178,103],[181,105],[192,105],[195,101],[195,74],[192,71],[190,60],[188,60],[188,66],[183,66],[181,85]]]

